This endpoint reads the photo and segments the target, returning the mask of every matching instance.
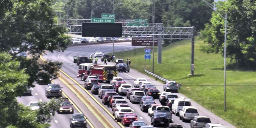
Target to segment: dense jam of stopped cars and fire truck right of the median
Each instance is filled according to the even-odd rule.
[[[108,54],[96,53],[94,59],[112,60]],[[135,79],[132,85],[127,83],[123,77],[118,76],[118,72],[129,71],[128,64],[122,59],[113,61],[115,65],[107,65],[100,64],[91,57],[74,56],[74,63],[79,65],[77,77],[85,81],[84,88],[97,96],[115,120],[125,127],[183,128],[182,124],[173,122],[173,116],[179,117],[182,122],[190,123],[191,128],[224,127],[218,123],[211,123],[207,116],[199,115],[198,109],[193,107],[190,99],[178,97],[176,93],[181,88],[181,84],[176,81],[167,81],[161,86],[163,92],[160,92],[156,85],[152,85],[145,78]],[[127,101],[131,104],[139,104],[140,110],[150,117],[150,124],[145,123],[142,117],[136,114],[134,106],[129,105]],[[70,109],[68,107],[67,109],[69,112]]]

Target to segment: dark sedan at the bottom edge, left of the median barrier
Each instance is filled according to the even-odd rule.
[[[86,128],[86,120],[83,114],[75,113],[70,117],[69,127]]]

